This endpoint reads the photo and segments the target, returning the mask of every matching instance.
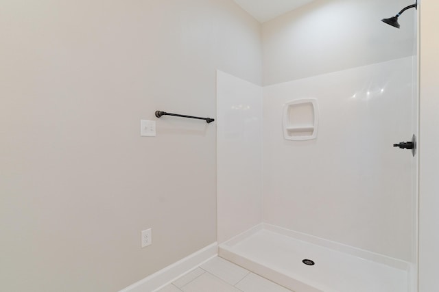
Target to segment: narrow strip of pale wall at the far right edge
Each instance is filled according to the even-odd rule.
[[[419,292],[439,291],[438,10],[420,2]]]

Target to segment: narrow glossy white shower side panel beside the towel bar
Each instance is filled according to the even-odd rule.
[[[217,72],[217,240],[262,222],[262,88]]]

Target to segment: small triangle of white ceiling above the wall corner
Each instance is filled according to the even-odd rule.
[[[259,22],[270,21],[314,0],[235,0]]]

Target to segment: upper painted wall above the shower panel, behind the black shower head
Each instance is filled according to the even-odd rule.
[[[414,10],[401,16],[401,29],[380,21],[410,5],[402,2],[316,0],[263,23],[263,84],[412,56]]]

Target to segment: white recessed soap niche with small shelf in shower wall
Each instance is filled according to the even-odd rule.
[[[283,136],[286,140],[312,140],[318,133],[318,101],[300,98],[283,107]]]

